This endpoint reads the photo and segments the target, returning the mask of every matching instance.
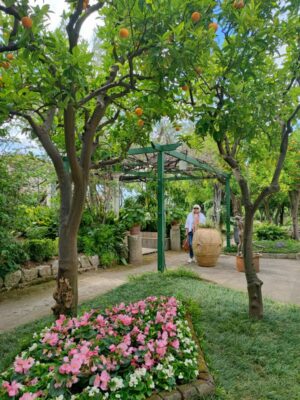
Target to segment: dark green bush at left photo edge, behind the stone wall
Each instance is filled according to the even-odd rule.
[[[19,269],[20,264],[28,260],[28,254],[22,243],[16,242],[8,234],[0,232],[0,276]]]

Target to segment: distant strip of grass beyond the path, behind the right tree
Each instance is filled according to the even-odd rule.
[[[280,254],[290,254],[290,253],[300,253],[300,242],[292,239],[282,239],[282,240],[256,240],[253,242],[254,251],[259,251],[262,253],[280,253]],[[237,246],[231,246],[230,248],[224,247],[224,252],[226,253],[236,253]]]

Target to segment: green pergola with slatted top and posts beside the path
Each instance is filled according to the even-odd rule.
[[[157,237],[157,269],[160,272],[164,272],[165,263],[165,182],[166,181],[178,181],[178,180],[193,180],[193,179],[212,179],[219,178],[225,181],[225,194],[226,194],[226,243],[230,247],[230,174],[221,171],[214,166],[193,158],[183,152],[178,151],[178,147],[182,143],[174,144],[154,144],[151,143],[151,147],[133,148],[128,151],[129,156],[145,155],[145,154],[157,154],[157,171],[141,171],[134,170],[133,168],[124,169],[126,180],[157,180],[157,200],[158,200],[158,237]],[[185,161],[187,164],[195,167],[195,171],[201,170],[208,173],[207,176],[197,176],[195,174],[187,174],[183,171],[165,171],[165,159],[166,156],[174,158],[180,161]],[[132,164],[131,164],[132,165]],[[136,166],[139,166],[139,162],[136,162]],[[171,174],[171,176],[169,176]]]

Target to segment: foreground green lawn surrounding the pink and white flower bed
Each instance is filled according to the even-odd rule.
[[[82,309],[105,308],[148,295],[175,295],[190,305],[194,327],[216,384],[211,400],[300,400],[300,308],[265,300],[265,317],[247,315],[247,295],[201,281],[179,269],[149,273],[125,284]],[[199,317],[200,310],[200,317]],[[0,336],[0,369],[26,348],[34,331],[50,319]]]

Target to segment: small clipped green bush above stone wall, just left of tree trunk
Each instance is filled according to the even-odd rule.
[[[57,241],[51,239],[27,240],[26,248],[30,260],[47,261],[57,255]]]

